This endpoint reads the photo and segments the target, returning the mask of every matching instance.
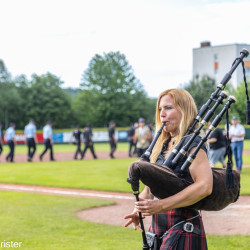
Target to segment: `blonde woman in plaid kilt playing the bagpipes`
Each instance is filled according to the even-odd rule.
[[[187,91],[168,89],[159,96],[156,107],[156,130],[163,123],[165,125],[150,156],[151,163],[162,165],[184,137],[196,115],[195,102]],[[201,137],[197,136],[183,159],[172,168],[177,176],[183,162],[200,140]],[[191,166],[180,177],[191,184],[164,199],[154,197],[150,188],[145,186],[139,195],[139,201],[135,202],[134,211],[124,217],[128,219],[125,226],[133,224],[135,230],[140,229],[139,212],[143,218],[152,215],[149,231],[156,234],[159,239],[159,245],[154,246],[155,249],[207,249],[201,215],[196,209],[187,208],[212,192],[213,176],[205,146],[199,150]]]

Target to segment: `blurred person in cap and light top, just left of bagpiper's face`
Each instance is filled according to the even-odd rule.
[[[152,139],[152,135],[148,126],[145,125],[143,118],[139,119],[139,127],[135,131],[134,140],[136,143],[137,156],[141,155],[146,151],[149,146],[149,142]]]

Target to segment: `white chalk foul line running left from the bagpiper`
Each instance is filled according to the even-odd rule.
[[[10,191],[23,191],[23,192],[37,192],[37,193],[49,193],[49,194],[60,194],[60,195],[78,195],[78,196],[90,196],[99,198],[113,198],[113,199],[126,199],[132,200],[133,197],[122,196],[122,195],[111,195],[111,194],[98,194],[98,193],[84,193],[78,191],[67,191],[67,190],[52,190],[47,188],[33,188],[33,187],[22,187],[22,186],[11,186],[11,185],[0,185],[2,190]]]

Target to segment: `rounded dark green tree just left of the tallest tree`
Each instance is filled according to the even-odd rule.
[[[61,85],[61,80],[51,73],[33,74],[30,83],[22,82],[20,93],[25,100],[22,126],[31,118],[35,119],[38,128],[42,128],[48,120],[56,128],[70,127],[74,123],[70,96]]]

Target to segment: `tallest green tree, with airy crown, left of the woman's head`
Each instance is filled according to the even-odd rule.
[[[153,119],[155,104],[120,52],[96,54],[83,74],[81,87],[74,107],[83,124],[104,126],[114,120],[118,126],[127,126],[140,116]]]

